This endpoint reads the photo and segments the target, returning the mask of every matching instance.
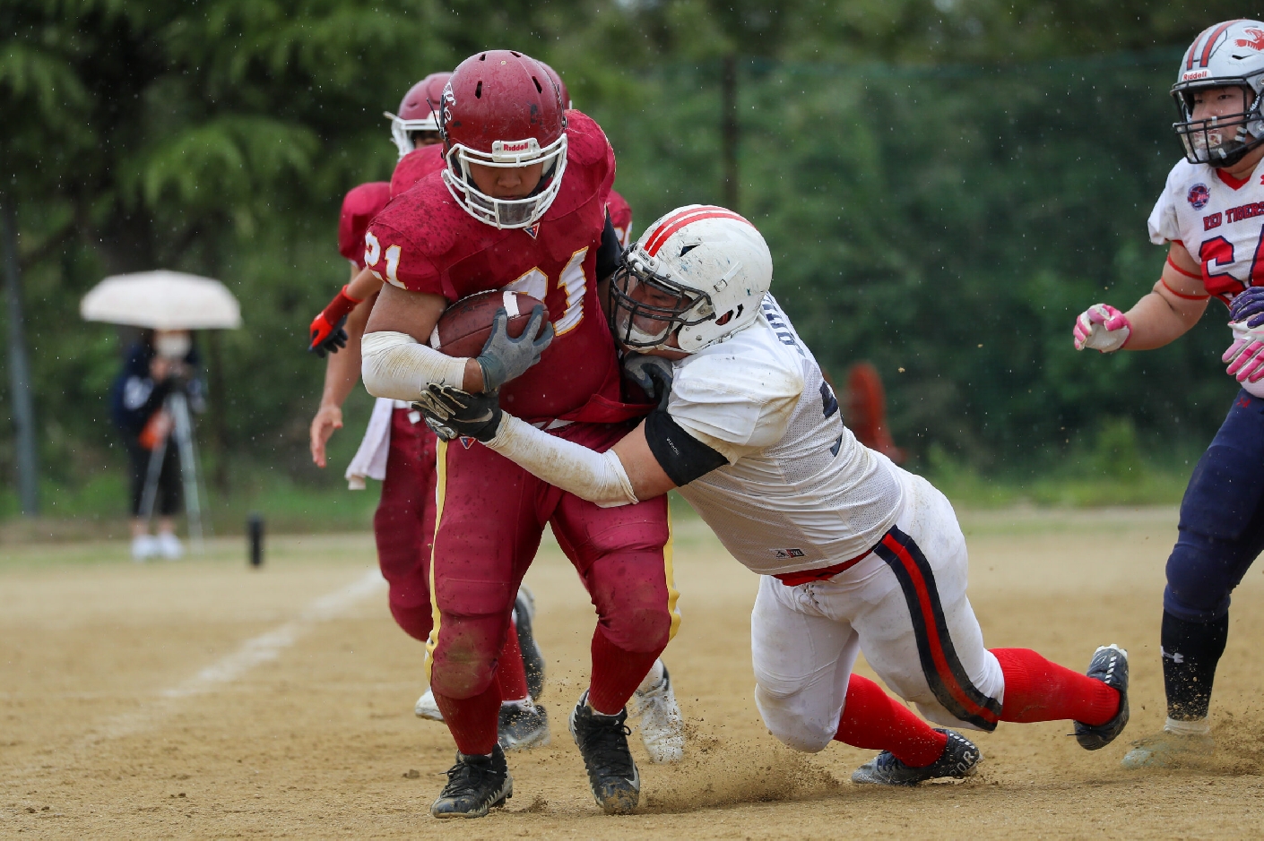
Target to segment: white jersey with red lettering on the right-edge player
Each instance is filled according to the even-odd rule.
[[[1149,218],[1150,241],[1181,242],[1202,264],[1202,284],[1225,303],[1264,285],[1264,167],[1245,181],[1181,160]]]

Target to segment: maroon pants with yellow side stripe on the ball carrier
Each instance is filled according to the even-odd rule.
[[[628,429],[576,423],[556,434],[604,451]],[[597,607],[589,702],[622,710],[679,623],[666,498],[603,509],[478,442],[439,450],[430,686],[456,746],[487,754],[495,744],[498,653],[545,524]]]

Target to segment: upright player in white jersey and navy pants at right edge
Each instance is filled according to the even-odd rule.
[[[1216,24],[1189,45],[1172,87],[1181,115],[1173,128],[1186,157],[1149,218],[1150,241],[1168,246],[1163,275],[1126,313],[1098,303],[1076,319],[1079,350],[1149,350],[1182,336],[1208,301],[1220,298],[1232,304],[1224,361],[1243,384],[1189,479],[1168,558],[1162,630],[1168,720],[1163,732],[1124,758],[1126,768],[1211,750],[1207,710],[1229,636],[1229,596],[1264,549],[1264,328],[1248,323],[1260,312],[1251,287],[1264,284],[1261,86],[1264,23]]]

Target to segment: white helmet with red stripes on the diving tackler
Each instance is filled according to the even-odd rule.
[[[629,350],[693,354],[751,326],[770,285],[772,255],[753,225],[723,207],[679,207],[623,254],[611,328]]]

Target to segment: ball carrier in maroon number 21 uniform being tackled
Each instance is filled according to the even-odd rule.
[[[605,135],[590,117],[566,112],[544,68],[512,51],[479,53],[456,68],[440,129],[445,168],[393,201],[365,236],[365,263],[387,282],[363,341],[365,386],[398,400],[416,400],[430,384],[499,388],[507,407],[552,434],[609,447],[650,407],[622,402],[598,302],[598,282],[619,255],[605,213],[614,181]],[[542,325],[537,312],[512,340],[502,313],[477,359],[427,346],[447,306],[490,289],[540,298],[552,322]],[[597,802],[631,811],[640,777],[624,706],[679,623],[666,501],[602,509],[477,442],[439,447],[427,667],[459,753],[431,813],[477,817],[512,794],[495,739],[497,654],[546,523],[599,617],[589,688],[570,731]]]

